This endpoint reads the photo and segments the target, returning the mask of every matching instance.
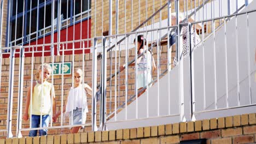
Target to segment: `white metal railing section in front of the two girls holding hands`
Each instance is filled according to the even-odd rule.
[[[14,47],[4,47],[3,49],[5,50],[8,50],[7,53],[1,53],[1,56],[2,55],[10,55],[10,74],[9,74],[9,92],[8,92],[8,116],[7,116],[7,130],[8,130],[8,137],[12,137],[13,134],[12,134],[12,129],[11,129],[11,125],[12,125],[12,121],[13,121],[13,113],[12,113],[12,109],[13,109],[13,98],[14,98],[14,86],[17,86],[16,83],[14,83],[14,71],[16,70],[19,70],[19,80],[18,80],[18,87],[19,87],[19,91],[18,91],[18,108],[17,108],[17,111],[18,111],[18,115],[17,115],[17,123],[16,123],[16,136],[18,137],[21,137],[22,134],[21,134],[21,131],[27,131],[27,130],[42,130],[42,129],[60,129],[60,128],[71,128],[71,127],[78,127],[78,126],[82,126],[82,125],[85,125],[85,126],[92,126],[92,127],[96,127],[96,111],[92,111],[92,113],[94,113],[94,115],[92,115],[92,121],[94,122],[94,124],[91,124],[90,122],[87,122],[87,123],[83,123],[83,124],[66,124],[65,121],[64,121],[64,116],[61,114],[61,117],[60,117],[60,125],[59,126],[54,126],[53,125],[53,120],[50,120],[50,125],[49,127],[42,127],[42,125],[39,126],[39,128],[33,128],[32,127],[32,121],[30,121],[29,125],[30,127],[28,128],[23,128],[22,127],[22,99],[23,99],[23,92],[24,92],[24,86],[23,86],[23,83],[24,83],[24,66],[25,66],[25,55],[26,53],[32,53],[32,61],[31,61],[31,78],[30,80],[26,80],[27,82],[29,81],[30,83],[33,83],[33,74],[34,74],[34,69],[37,69],[37,68],[34,68],[36,67],[36,65],[43,65],[44,64],[44,58],[42,59],[42,61],[40,61],[40,63],[38,62],[35,62],[34,61],[34,53],[36,52],[42,52],[42,57],[44,57],[44,53],[45,52],[50,52],[51,50],[49,49],[49,46],[58,46],[58,45],[61,45],[62,49],[60,50],[60,53],[61,53],[61,63],[62,63],[62,69],[63,69],[63,63],[65,62],[65,51],[67,51],[67,49],[65,48],[66,46],[68,46],[68,44],[72,44],[72,76],[71,76],[71,79],[72,77],[74,77],[74,68],[77,67],[77,66],[74,66],[76,65],[76,62],[74,60],[74,52],[77,51],[77,50],[82,50],[82,57],[85,57],[85,50],[90,50],[90,47],[87,47],[86,45],[88,43],[94,43],[94,49],[92,51],[92,53],[94,53],[94,58],[93,59],[96,59],[96,61],[91,61],[92,63],[92,67],[91,67],[91,72],[94,74],[94,79],[92,79],[92,81],[86,81],[86,82],[90,82],[92,83],[92,98],[91,98],[91,104],[92,105],[96,105],[96,85],[97,85],[97,47],[96,47],[96,44],[97,44],[97,40],[102,40],[102,37],[98,37],[98,38],[93,38],[93,39],[83,39],[83,40],[75,40],[75,41],[65,41],[65,42],[61,42],[61,43],[54,43],[54,44],[45,44],[45,45],[36,45],[36,46],[14,46]],[[82,48],[80,49],[75,49],[74,48],[74,45],[75,44],[82,44]],[[40,50],[39,50],[40,49]],[[16,69],[17,67],[15,66],[15,61],[16,61],[16,56],[19,54],[19,67],[18,69]],[[2,57],[1,57],[2,58]],[[55,61],[55,58],[56,56],[50,56],[49,57],[51,59],[51,64],[54,65],[54,61]],[[78,62],[79,63],[79,62]],[[85,71],[85,59],[83,58],[82,60],[82,70]],[[28,67],[28,65],[26,65],[26,67]],[[43,71],[43,70],[42,70]],[[43,73],[43,72],[42,72]],[[85,77],[83,75],[83,77]],[[65,78],[66,79],[66,78]],[[62,70],[62,73],[61,73],[61,95],[58,95],[58,97],[60,97],[61,99],[61,106],[60,106],[60,111],[62,111],[64,109],[63,107],[63,100],[64,100],[64,91],[65,89],[63,89],[63,85],[65,83],[65,80],[64,79],[64,72]],[[51,73],[51,79],[49,80],[51,83],[52,83],[52,86],[55,85],[54,83],[54,74]],[[83,82],[85,82],[83,80]],[[72,87],[74,87],[74,81],[72,79]],[[26,91],[27,93],[30,93],[30,95],[32,95],[32,86],[31,86],[31,89],[28,89]],[[54,93],[54,91],[52,91],[52,93]],[[41,93],[43,94],[43,93]],[[43,98],[43,95],[41,96]],[[27,97],[28,98],[28,97]],[[32,110],[32,105],[36,105],[36,104],[33,104],[32,103],[32,99],[33,97],[30,97],[30,111]],[[27,99],[28,100],[28,99]],[[54,99],[52,99],[52,101],[54,101]],[[51,113],[55,113],[53,110],[54,110],[54,103],[51,103]],[[41,104],[42,105],[42,104]],[[62,113],[62,112],[61,112]],[[73,115],[73,113],[71,113],[71,115]],[[82,113],[82,117],[84,117],[84,115],[86,115],[86,113]],[[32,115],[30,114],[30,119],[32,118]],[[40,115],[40,119],[42,119],[42,113]],[[42,121],[42,120],[40,120]],[[2,130],[3,131],[3,130]]]

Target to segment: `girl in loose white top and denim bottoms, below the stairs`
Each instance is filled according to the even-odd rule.
[[[92,89],[87,84],[82,83],[83,71],[82,69],[74,69],[74,88],[71,87],[66,106],[63,107],[63,113],[66,112],[69,116],[69,125],[81,124],[82,126],[72,127],[71,133],[78,133],[83,129],[86,121],[86,113],[88,112],[87,94],[92,94]],[[73,111],[73,114],[72,114]],[[61,115],[61,111],[57,112],[55,118]]]

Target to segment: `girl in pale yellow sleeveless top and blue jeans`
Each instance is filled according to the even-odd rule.
[[[42,77],[42,69],[43,69],[43,77]],[[29,111],[29,113],[32,115],[31,128],[40,127],[41,113],[42,113],[42,127],[48,127],[50,116],[52,114],[55,115],[56,108],[55,108],[54,87],[51,83],[47,81],[47,79],[50,77],[51,71],[52,69],[49,64],[44,63],[43,68],[42,68],[42,65],[39,65],[38,71],[36,73],[37,80],[33,81],[32,83],[32,105],[30,105],[31,86],[27,88],[25,113],[22,119],[24,121],[27,121],[28,110],[31,110],[30,106],[32,106],[32,111]],[[42,91],[43,91],[43,95],[42,95]],[[51,97],[53,97],[53,101],[51,101]],[[51,107],[51,104],[53,105],[53,107]],[[53,113],[51,113],[51,109],[53,109]],[[53,119],[53,121],[55,122],[56,119]],[[47,129],[39,130],[39,136],[42,136],[42,135],[47,135]],[[37,136],[37,130],[31,130],[29,136]]]

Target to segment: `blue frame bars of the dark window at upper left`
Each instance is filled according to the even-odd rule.
[[[37,30],[38,31],[36,31],[36,32],[31,32],[31,33],[27,33],[27,25],[29,25],[29,23],[27,23],[27,19],[30,19],[29,18],[29,16],[30,16],[30,13],[31,13],[31,11],[33,11],[33,10],[37,10],[37,13],[38,13],[38,11],[39,11],[39,9],[40,8],[44,8],[44,6],[46,6],[46,5],[50,5],[51,4],[51,0],[46,0],[45,2],[41,2],[40,3],[40,0],[38,0],[39,1],[39,5],[37,5],[36,7],[34,7],[34,8],[28,8],[28,7],[30,7],[29,5],[27,5],[28,4],[28,1],[30,1],[30,0],[25,0],[25,9],[24,9],[24,11],[22,11],[21,13],[19,13],[19,14],[15,14],[15,15],[13,15],[13,13],[12,12],[10,12],[10,15],[9,15],[9,12],[8,12],[8,19],[10,19],[10,20],[8,20],[7,21],[7,23],[8,23],[8,27],[9,27],[9,32],[7,31],[7,35],[9,35],[8,37],[9,37],[9,41],[8,41],[8,37],[6,37],[6,43],[5,43],[5,46],[13,46],[13,44],[15,43],[15,41],[19,41],[19,40],[22,40],[23,39],[23,45],[25,45],[25,44],[28,44],[29,42],[31,42],[31,41],[34,41],[34,40],[36,40],[36,39],[40,39],[40,38],[43,38],[43,37],[46,37],[47,35],[50,35],[51,34],[51,32],[47,32],[47,33],[45,33],[45,34],[42,34],[42,35],[39,35],[39,32],[42,32],[42,31],[44,31],[45,29],[48,29],[49,27],[51,27],[51,26],[48,26],[48,27],[45,27],[45,28],[41,28],[41,29],[39,29],[39,25],[37,25]],[[33,0],[32,0],[33,1]],[[57,0],[54,0],[55,1],[55,4],[56,5],[58,5],[59,4],[59,1],[57,1]],[[69,0],[67,0],[67,1],[69,1]],[[79,1],[79,0],[78,0]],[[90,0],[88,0],[88,1],[90,1]],[[14,0],[8,0],[8,11],[9,11],[9,9],[11,8],[11,7],[13,7],[13,4],[12,4],[12,2],[14,2]],[[91,17],[91,15],[88,15],[88,16],[85,16],[85,17],[81,17],[82,19],[79,19],[79,20],[76,20],[76,17],[79,17],[80,15],[81,15],[81,13],[79,13],[79,14],[77,14],[77,15],[74,15],[73,14],[73,12],[74,12],[74,1],[73,0],[70,0],[69,1],[70,2],[70,4],[71,4],[71,8],[69,9],[69,12],[68,12],[68,16],[67,16],[67,19],[63,19],[63,20],[61,20],[61,23],[63,23],[63,22],[67,22],[66,23],[66,25],[64,25],[64,26],[61,26],[61,28],[60,28],[60,30],[62,30],[62,29],[66,29],[67,27],[70,27],[70,26],[73,26],[73,25],[75,25],[75,24],[77,24],[77,23],[79,23],[79,22],[83,22],[83,21],[85,21],[85,20],[89,20],[90,19],[90,17]],[[89,2],[90,4],[89,5],[91,5],[91,2]],[[89,7],[89,9],[88,10],[85,10],[85,11],[83,11],[82,12],[82,15],[84,15],[84,14],[87,14],[87,13],[91,13],[91,7]],[[37,19],[39,19],[39,15],[40,14],[37,14]],[[20,17],[23,17],[24,16],[24,34],[22,35],[22,37],[20,37],[20,38],[15,38],[14,40],[12,40],[11,38],[11,32],[13,31],[13,29],[11,29],[11,23],[12,22],[15,22],[15,20],[17,20],[17,19],[19,19]],[[59,15],[57,15],[57,17],[56,17],[56,19],[59,19]],[[69,21],[69,23],[68,23],[68,21]],[[37,23],[38,23],[38,20],[37,20]],[[23,23],[22,23],[22,25],[23,25]],[[54,33],[55,32],[57,32],[57,27],[59,26],[57,23],[56,23],[56,29],[54,30]],[[7,27],[7,29],[8,29],[8,27]],[[32,38],[32,39],[29,39],[29,37],[31,37],[31,35],[34,35],[34,34],[37,34],[38,33],[38,35],[37,35],[37,37],[36,38]],[[14,36],[15,37],[15,36]],[[17,36],[16,36],[17,37]],[[12,41],[11,41],[12,40]],[[16,44],[16,45],[22,45],[22,43],[19,43],[19,44]]]

